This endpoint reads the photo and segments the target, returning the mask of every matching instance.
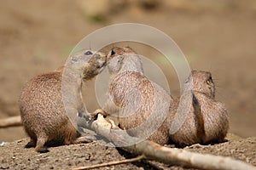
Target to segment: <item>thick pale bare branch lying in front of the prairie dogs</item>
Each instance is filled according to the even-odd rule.
[[[235,160],[228,156],[213,156],[210,154],[199,154],[176,148],[167,148],[152,141],[131,137],[124,130],[112,130],[101,114],[95,122],[92,122],[92,128],[96,133],[104,136],[113,142],[122,150],[132,154],[143,155],[146,159],[160,161],[172,165],[185,165],[200,169],[252,169],[256,167],[244,161]]]

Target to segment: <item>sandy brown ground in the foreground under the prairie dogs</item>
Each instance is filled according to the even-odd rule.
[[[185,150],[204,154],[232,156],[241,161],[256,166],[256,138],[241,139],[229,134],[229,141],[214,145],[192,145]],[[131,156],[124,151],[117,150],[102,140],[89,144],[72,144],[49,148],[48,153],[38,154],[33,148],[24,149],[28,139],[20,139],[6,144],[1,148],[0,169],[68,169],[84,167],[109,161],[119,161]],[[171,145],[167,147],[172,147]],[[121,164],[101,169],[191,169],[179,166],[165,165],[155,161],[139,161]]]

